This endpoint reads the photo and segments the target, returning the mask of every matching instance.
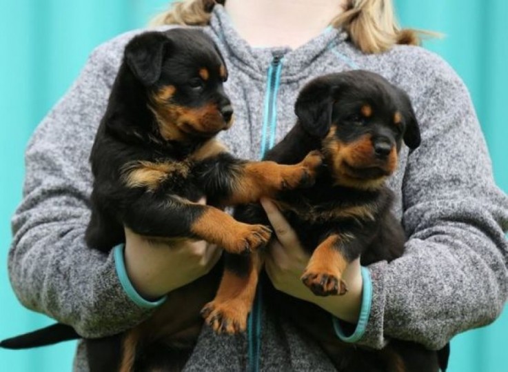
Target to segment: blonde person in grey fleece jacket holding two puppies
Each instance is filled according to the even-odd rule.
[[[494,184],[467,89],[439,57],[400,30],[389,0],[185,0],[155,19],[158,30],[195,26],[227,65],[234,124],[219,138],[236,157],[260,159],[296,121],[298,91],[320,75],[369,70],[407,92],[421,143],[400,149],[389,179],[403,222],[405,254],[343,273],[347,293],[318,297],[301,281],[309,261],[296,233],[262,199],[277,240],[265,269],[278,291],[325,309],[337,337],[383,348],[390,339],[442,348],[494,321],[508,296],[508,198]],[[28,308],[70,324],[85,338],[121,333],[148,319],[171,293],[212,270],[221,248],[163,244],[125,228],[109,253],[84,242],[92,175],[88,156],[121,63],[140,31],[96,48],[80,77],[34,133],[24,197],[13,219],[9,273]],[[205,204],[204,199],[201,203]],[[181,311],[185,311],[182,304]],[[349,324],[349,326],[347,326]],[[341,326],[344,328],[341,329]],[[80,343],[74,371],[89,371]],[[246,333],[203,326],[184,371],[332,371],[323,350],[258,293]]]

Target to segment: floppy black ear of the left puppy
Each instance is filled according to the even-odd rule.
[[[144,86],[151,86],[161,76],[168,39],[162,32],[145,32],[125,46],[125,62]]]

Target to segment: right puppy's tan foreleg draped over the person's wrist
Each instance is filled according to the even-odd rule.
[[[341,277],[349,262],[358,257],[346,248],[352,239],[348,235],[329,235],[312,253],[301,279],[315,295],[343,295],[347,292]]]

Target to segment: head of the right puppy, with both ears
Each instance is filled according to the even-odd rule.
[[[336,184],[372,189],[397,168],[404,141],[420,145],[407,94],[374,72],[354,70],[318,77],[296,101],[299,125],[321,139]]]

